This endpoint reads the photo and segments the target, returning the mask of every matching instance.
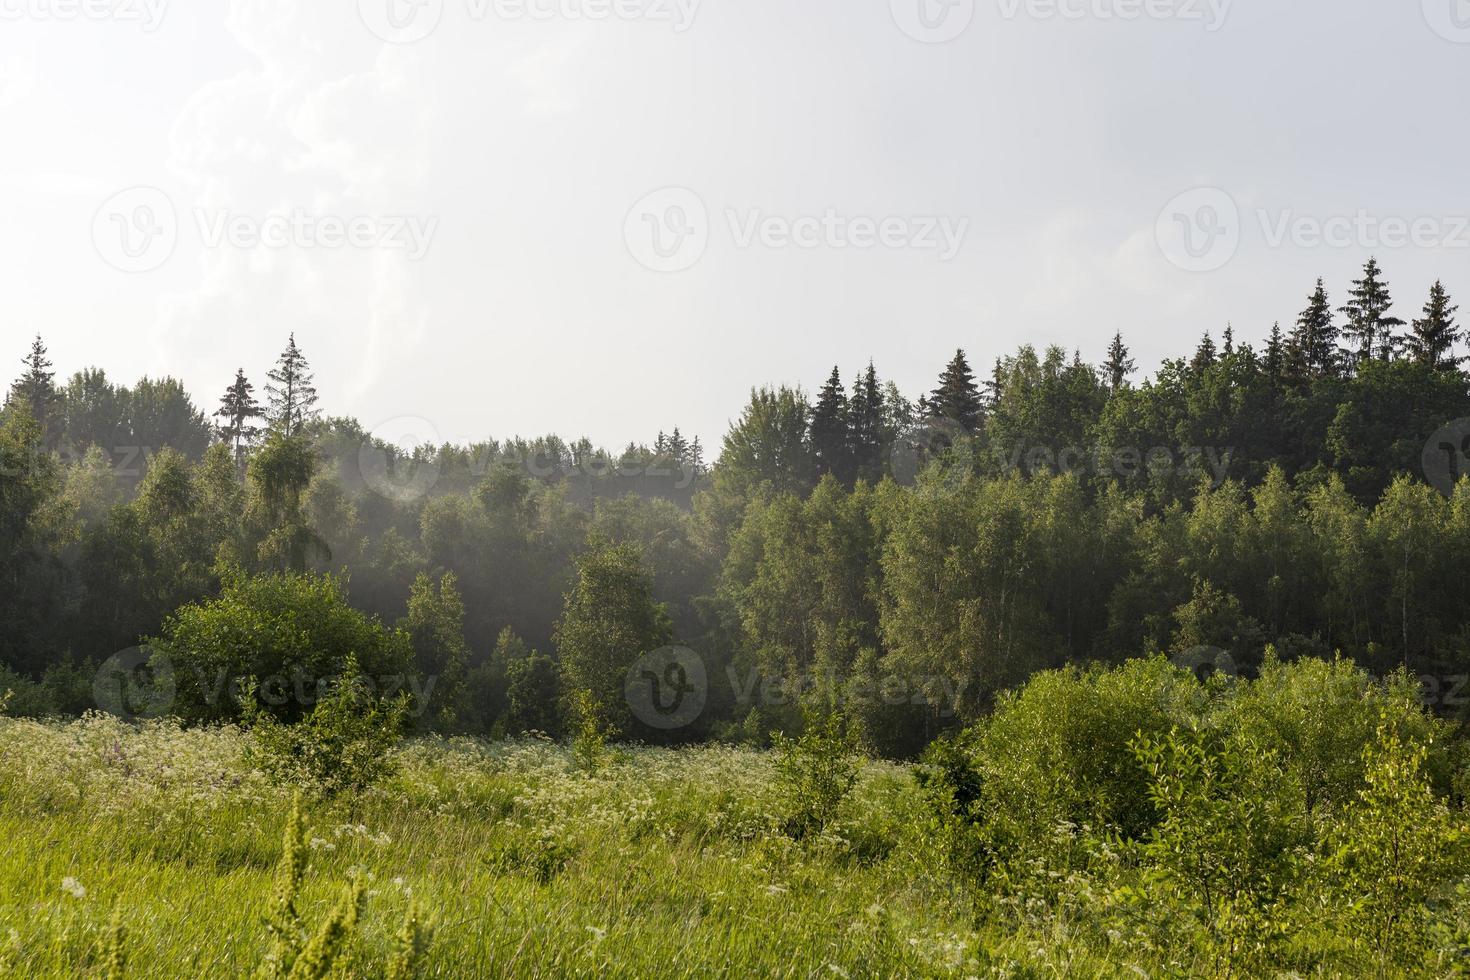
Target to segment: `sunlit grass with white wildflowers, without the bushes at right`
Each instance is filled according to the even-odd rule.
[[[0,962],[106,976],[116,909],[129,977],[253,973],[291,799],[244,749],[234,729],[0,718]],[[550,743],[429,741],[401,761],[350,804],[306,807],[304,918],[368,883],[348,976],[382,974],[412,899],[435,924],[425,976],[976,971],[901,767],[869,764],[798,845],[773,830],[767,754],[616,749],[589,773]]]

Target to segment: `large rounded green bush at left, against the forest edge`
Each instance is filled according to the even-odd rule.
[[[234,574],[219,598],[179,608],[148,641],[178,685],[176,714],[232,721],[240,698],[229,685],[257,682],[257,701],[278,720],[307,714],[323,682],[341,676],[348,655],[378,688],[407,686],[407,636],[347,604],[343,582],[319,574]]]

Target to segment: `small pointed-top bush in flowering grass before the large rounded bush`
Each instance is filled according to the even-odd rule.
[[[251,758],[279,782],[322,795],[362,790],[392,774],[390,752],[403,735],[409,698],[376,698],[348,655],[344,674],[306,718],[284,724],[254,698],[244,705]]]

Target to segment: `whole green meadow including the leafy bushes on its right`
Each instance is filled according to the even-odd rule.
[[[303,795],[240,727],[0,717],[0,973],[1470,970],[1463,745],[1407,679],[1302,661],[1200,683],[1158,658],[1041,674],[917,765],[833,732],[416,738],[376,785]],[[272,973],[297,807],[303,937],[338,915],[322,973]]]

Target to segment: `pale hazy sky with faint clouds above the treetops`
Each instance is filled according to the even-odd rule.
[[[294,332],[372,430],[714,447],[1370,254],[1470,300],[1467,110],[1470,0],[0,0],[0,356],[213,410]]]

